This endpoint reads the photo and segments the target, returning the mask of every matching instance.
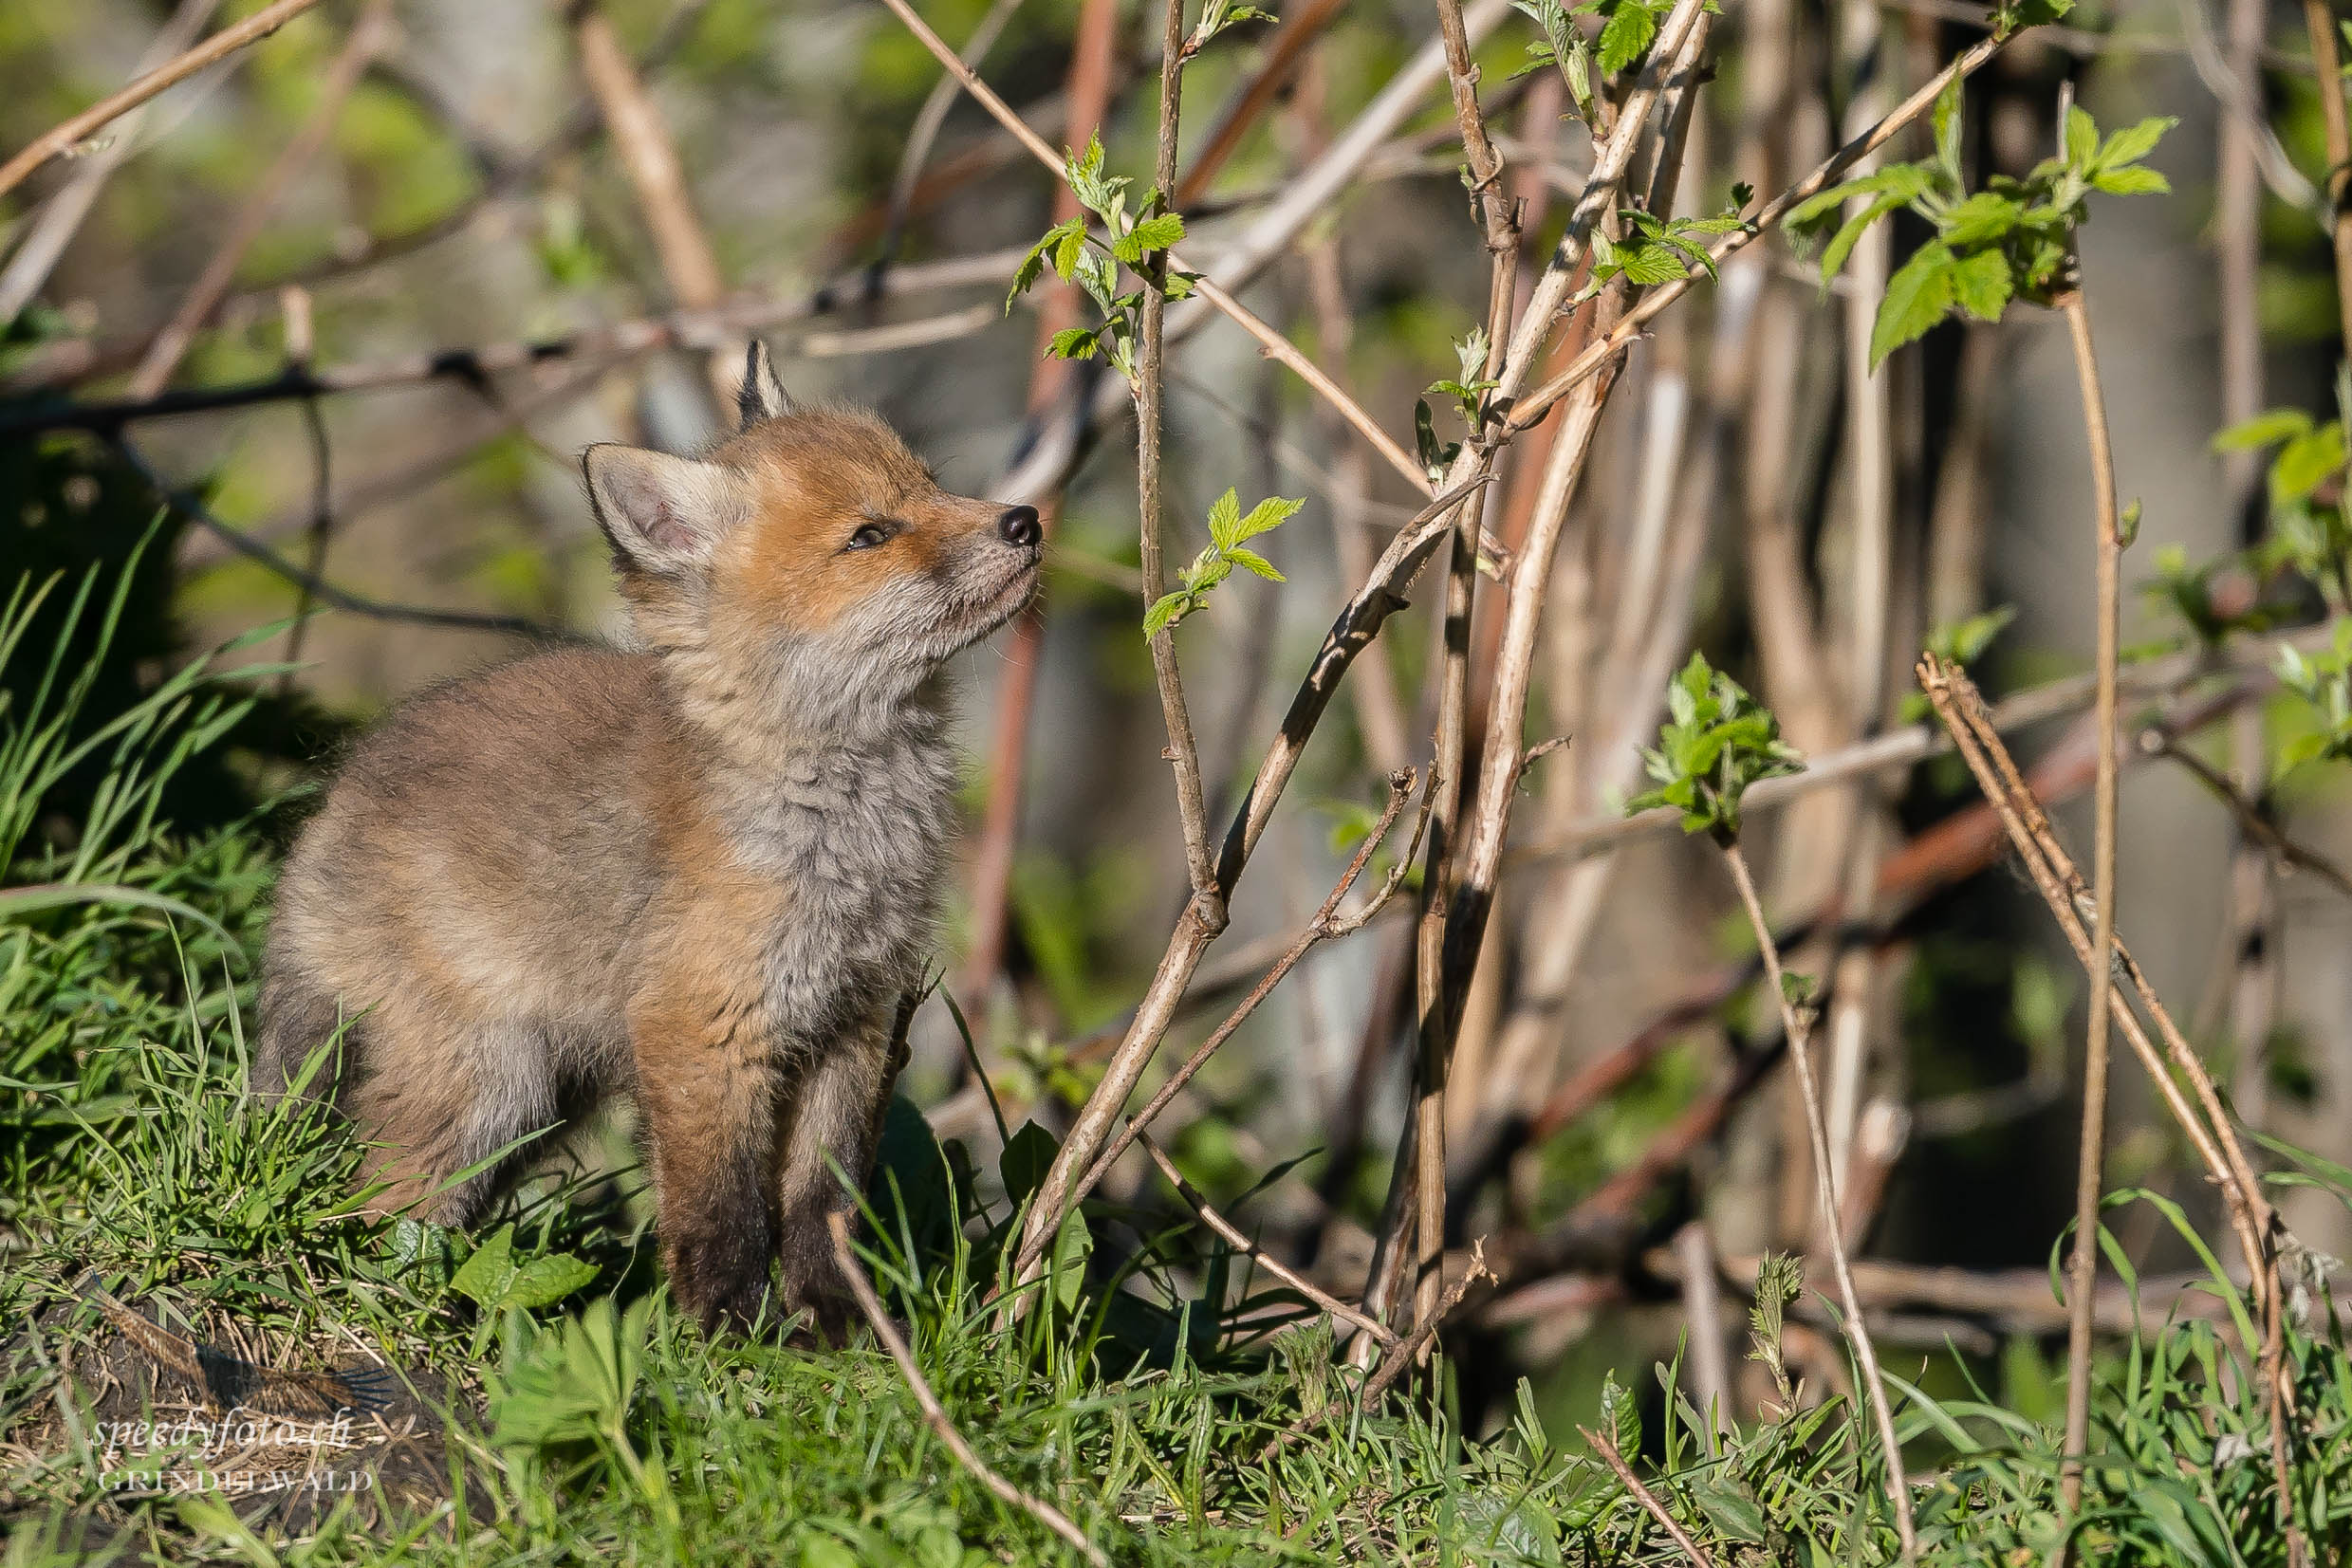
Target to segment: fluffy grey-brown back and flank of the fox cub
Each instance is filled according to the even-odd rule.
[[[273,947],[346,999],[607,1018],[661,884],[649,790],[691,790],[689,769],[642,654],[435,686],[353,748],[287,860]]]

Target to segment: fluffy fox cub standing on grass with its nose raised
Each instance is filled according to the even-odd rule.
[[[463,1225],[501,1150],[637,1100],[675,1298],[837,1335],[828,1157],[863,1175],[936,919],[943,665],[1035,583],[1035,508],[967,501],[762,346],[708,456],[581,468],[640,649],[440,686],[350,755],[285,867],[254,1081],[369,1143],[379,1211]],[[473,1175],[470,1166],[492,1161]]]

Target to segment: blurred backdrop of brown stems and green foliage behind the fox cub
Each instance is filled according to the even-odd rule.
[[[0,143],[249,9],[0,9]],[[1157,14],[920,9],[1047,141],[1098,127],[1110,167],[1148,179]],[[1724,209],[1733,181],[1783,188],[1983,35],[1957,0],[1724,9],[1682,181],[1691,214]],[[1432,38],[1423,5],[1291,0],[1204,52],[1185,78],[1188,252],[1235,244]],[[1536,38],[1512,14],[1479,61],[1541,259],[1590,139],[1555,73],[1515,75]],[[132,559],[169,496],[108,679],[132,691],[183,651],[278,628],[270,646],[299,668],[179,783],[174,811],[200,825],[275,802],[282,835],[306,780],[402,696],[539,637],[621,632],[576,454],[722,433],[713,381],[748,334],[795,395],[873,404],[950,489],[1016,498],[1007,475],[1065,428],[1096,369],[1040,355],[1077,320],[1063,284],[1004,303],[1018,252],[1065,216],[1051,179],[938,85],[920,42],[863,2],[327,0],[5,197],[0,583]],[[2150,592],[2126,602],[2124,642],[2157,677],[2131,686],[2129,736],[2154,726],[2237,778],[2263,823],[2343,863],[2352,813],[2333,776],[2274,780],[2307,717],[2267,689],[2253,642],[2321,604],[2239,555],[2270,529],[2263,458],[2211,444],[2267,407],[2333,411],[2303,12],[2077,9],[1971,80],[1971,176],[2042,160],[2060,92],[2105,127],[2178,120],[2154,155],[2171,195],[2093,197],[2084,235],[2122,494],[2143,505],[2126,583]],[[1919,129],[1891,150],[1924,146]],[[1406,442],[1486,296],[1458,162],[1432,78],[1244,294]],[[2089,844],[2086,703],[2063,682],[2093,637],[2091,482],[2063,324],[2020,306],[1863,374],[1851,334],[1922,237],[1882,235],[1832,292],[1771,237],[1658,317],[1573,503],[1529,719],[1531,738],[1573,743],[1529,771],[1449,1110],[1451,1239],[1517,1260],[1468,1331],[1465,1403],[1522,1371],[1566,1389],[1672,1354],[1679,1260],[1712,1255],[1736,1279],[1811,1229],[1778,1023],[1750,992],[1719,858],[1672,823],[1606,827],[1689,649],[1828,755],[1917,726],[1912,654],[2009,607],[1978,677],[1994,698],[2077,691],[2016,745],[2077,853]],[[1545,440],[1505,461],[1496,552],[1524,534]],[[1244,505],[1305,501],[1261,541],[1289,581],[1242,576],[1178,635],[1211,809],[1230,811],[1414,496],[1223,322],[1176,353],[1169,449],[1176,562],[1228,487]],[[1054,515],[1049,585],[1030,623],[964,661],[967,827],[938,966],[1007,1112],[1051,1124],[1167,940],[1183,853],[1138,632],[1131,425],[1098,421],[1065,487],[1018,498]],[[1498,595],[1482,595],[1472,679],[1494,658]],[[1324,900],[1381,778],[1430,755],[1435,599],[1423,581],[1317,731],[1169,1051],[1197,1044]],[[2216,665],[2239,675],[2216,684]],[[2044,1269],[2070,1213],[2084,985],[2002,867],[1966,773],[1922,762],[1917,741],[1900,766],[1759,804],[1750,844],[1792,966],[1830,983],[1823,1051],[1882,1347],[1917,1366],[1952,1342],[2030,1387],[2063,1340]],[[2187,764],[2126,738],[2126,766],[2124,936],[2249,1126],[2352,1161],[2352,903],[2284,872]],[[1162,1121],[1211,1197],[1305,1157],[1249,1222],[1343,1293],[1404,1119],[1409,959],[1409,914],[1319,947]],[[938,1004],[908,1088],[943,1135],[995,1143]],[[2209,1213],[2150,1105],[2119,1056],[2110,1185]],[[1138,1157],[1112,1190],[1169,1201]],[[2352,1248],[2343,1208],[2303,1197],[2293,1229]],[[2122,1241],[2154,1276],[2190,1262],[2140,1222]]]

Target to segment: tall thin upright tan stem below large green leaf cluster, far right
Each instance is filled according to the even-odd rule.
[[[2077,263],[2079,266],[2079,263]],[[2093,785],[2096,839],[2091,851],[2091,973],[2107,973],[2114,954],[2114,665],[2122,628],[2124,536],[2114,508],[2114,449],[2107,442],[2107,400],[2098,388],[2098,355],[2091,348],[2091,310],[2082,282],[2058,303],[2067,339],[2074,346],[2074,381],[2082,388],[2082,418],[2091,442],[2091,489],[2098,531],[2098,783]],[[2082,1152],[2074,1166],[2074,1253],[2067,1260],[2067,1295],[2074,1312],[2067,1324],[2065,1380],[2065,1458],[2060,1493],[2072,1512],[2082,1505],[2082,1467],[2091,1443],[2091,1309],[2098,1284],[2098,1201],[2105,1187],[2107,1145],[2107,994],[2091,987],[2091,1020],[2082,1065]]]

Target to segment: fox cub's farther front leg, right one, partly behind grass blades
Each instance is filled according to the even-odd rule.
[[[898,1077],[896,999],[842,1032],[786,1091],[776,1166],[776,1244],[786,1307],[807,1309],[816,1331],[840,1342],[856,1321],[856,1298],[833,1255],[826,1215],[849,1213],[873,1171],[875,1143]],[[854,1187],[842,1187],[835,1166]]]

